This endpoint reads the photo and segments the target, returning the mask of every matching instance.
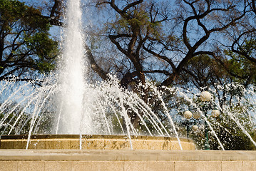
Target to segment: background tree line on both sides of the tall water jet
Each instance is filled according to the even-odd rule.
[[[65,4],[25,2],[1,0],[1,80],[56,64],[58,40],[49,31],[63,26]],[[88,1],[83,9],[99,17],[86,30],[87,58],[103,80],[114,71],[125,88],[145,83],[145,76],[161,86],[248,86],[255,82],[254,4]]]

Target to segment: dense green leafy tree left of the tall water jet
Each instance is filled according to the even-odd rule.
[[[54,68],[58,48],[49,34],[53,19],[20,1],[0,1],[0,80]]]

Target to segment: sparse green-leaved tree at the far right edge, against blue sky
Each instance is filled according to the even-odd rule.
[[[255,1],[245,1],[245,17],[226,29],[227,41],[219,48],[217,61],[234,81],[245,87],[255,84]]]

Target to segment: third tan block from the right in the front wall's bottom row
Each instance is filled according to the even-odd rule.
[[[176,161],[174,162],[175,171],[220,171],[220,161]]]

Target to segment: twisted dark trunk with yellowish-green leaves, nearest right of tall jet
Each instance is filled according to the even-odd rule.
[[[115,1],[98,1],[97,6],[108,4],[118,14],[116,21],[108,22],[106,36],[126,58],[124,63],[121,62],[121,65],[127,66],[121,84],[127,88],[130,82],[135,81],[134,78],[145,83],[145,73],[148,71],[144,69],[147,56],[143,54],[143,44],[150,37],[160,36],[160,24],[168,20],[168,11],[167,7],[155,11],[155,2],[140,0],[122,3],[123,6],[117,5]]]

